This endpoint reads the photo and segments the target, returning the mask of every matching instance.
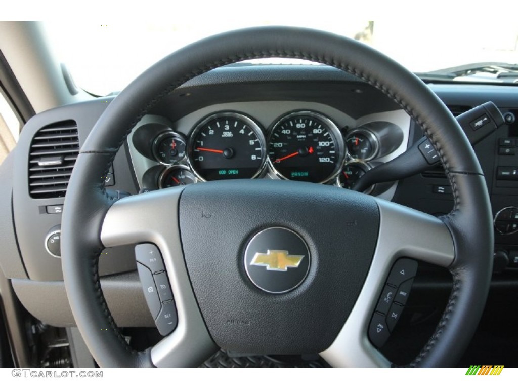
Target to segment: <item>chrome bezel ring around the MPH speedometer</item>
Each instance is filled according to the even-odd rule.
[[[279,124],[285,120],[292,119],[297,116],[309,116],[309,117],[313,117],[315,119],[321,120],[329,128],[329,131],[332,133],[332,136],[334,137],[336,149],[338,152],[338,160],[335,163],[335,169],[333,170],[333,172],[331,174],[329,174],[329,176],[327,176],[324,180],[317,182],[315,184],[327,184],[329,182],[332,182],[332,180],[337,177],[337,175],[340,173],[340,171],[343,167],[343,163],[346,159],[346,146],[343,141],[343,136],[340,133],[340,130],[338,129],[338,126],[329,117],[327,117],[323,114],[320,114],[318,112],[311,111],[311,110],[297,110],[297,111],[291,112],[289,114],[283,115],[282,117],[277,119],[274,122],[274,124],[272,126],[270,126],[270,128],[268,130],[268,137],[266,140],[267,148],[269,149],[271,137],[274,134],[274,130],[279,126]],[[280,173],[275,168],[274,163],[271,161],[269,154],[267,154],[266,159],[268,161],[268,168],[272,172],[274,172],[274,174],[277,177],[290,181],[290,178],[285,177],[282,173]]]

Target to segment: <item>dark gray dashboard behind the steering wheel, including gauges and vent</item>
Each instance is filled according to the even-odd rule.
[[[493,101],[506,119],[474,150],[495,220],[492,290],[512,296],[518,289],[518,122],[514,119],[518,89],[469,84],[429,87],[455,116]],[[2,201],[12,204],[0,215],[11,223],[3,228],[6,255],[0,268],[23,307],[56,327],[75,325],[59,251],[67,180],[79,148],[113,98],[38,114],[26,124],[16,152],[2,166],[4,172],[13,173],[6,175],[8,185],[0,190]],[[104,180],[114,197],[232,178],[304,180],[347,190],[366,171],[401,155],[422,136],[419,125],[395,102],[334,68],[222,67],[177,88],[142,117],[130,129]],[[366,192],[436,216],[453,208],[452,188],[440,166],[398,182],[377,184]],[[142,294],[134,246],[106,248],[99,255],[99,273],[119,326],[154,326]],[[419,337],[427,339],[451,288],[448,275],[420,266],[401,331],[423,325],[429,330],[420,327]],[[416,344],[414,349],[419,351],[420,343]],[[389,342],[386,347],[393,345]],[[397,349],[391,350],[398,362]]]

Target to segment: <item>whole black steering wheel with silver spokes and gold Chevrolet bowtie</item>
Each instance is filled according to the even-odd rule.
[[[151,107],[197,75],[268,57],[334,66],[398,103],[440,156],[455,199],[451,213],[436,218],[350,190],[262,179],[209,182],[121,200],[109,196],[102,177]],[[218,347],[258,354],[316,352],[334,367],[392,367],[367,333],[400,258],[433,263],[452,274],[444,314],[409,365],[449,367],[476,329],[492,272],[493,229],[483,173],[443,103],[376,50],[293,27],[210,37],[170,54],[134,80],[106,108],[81,148],[62,231],[68,299],[102,367],[194,367]],[[110,315],[97,263],[104,247],[144,242],[163,257],[178,324],[155,346],[136,352]],[[266,271],[271,265],[266,260],[254,268],[263,271],[258,280],[251,261],[279,246],[291,253],[277,258],[288,263],[281,270],[298,263],[305,263],[304,269]],[[303,275],[286,286],[283,277],[295,273]]]

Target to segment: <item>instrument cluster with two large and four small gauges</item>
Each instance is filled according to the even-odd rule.
[[[156,162],[142,177],[144,187],[269,176],[351,188],[404,138],[390,122],[338,128],[315,110],[286,113],[266,129],[247,114],[218,112],[185,133],[157,122],[135,129],[133,146]]]

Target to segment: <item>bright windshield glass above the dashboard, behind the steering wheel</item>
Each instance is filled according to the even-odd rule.
[[[69,25],[67,25],[67,23]],[[51,45],[76,84],[97,95],[122,90],[141,72],[172,51],[209,35],[257,25],[294,25],[326,30],[363,41],[411,71],[433,73],[451,80],[516,82],[518,79],[518,23],[456,20],[448,25],[421,18],[405,22],[350,21],[341,12],[325,19],[293,22],[285,17],[254,17],[253,13],[222,21],[178,22],[64,22],[45,23]],[[66,33],[63,33],[66,31]],[[257,62],[257,61],[255,61]],[[261,63],[276,63],[261,60]],[[297,63],[277,60],[277,63]],[[495,70],[487,64],[498,63]],[[462,72],[461,65],[474,64]],[[484,66],[481,66],[484,65]],[[515,65],[514,70],[513,66]],[[467,70],[466,70],[467,69]],[[446,70],[446,71],[443,71]],[[425,77],[426,78],[426,77]]]

